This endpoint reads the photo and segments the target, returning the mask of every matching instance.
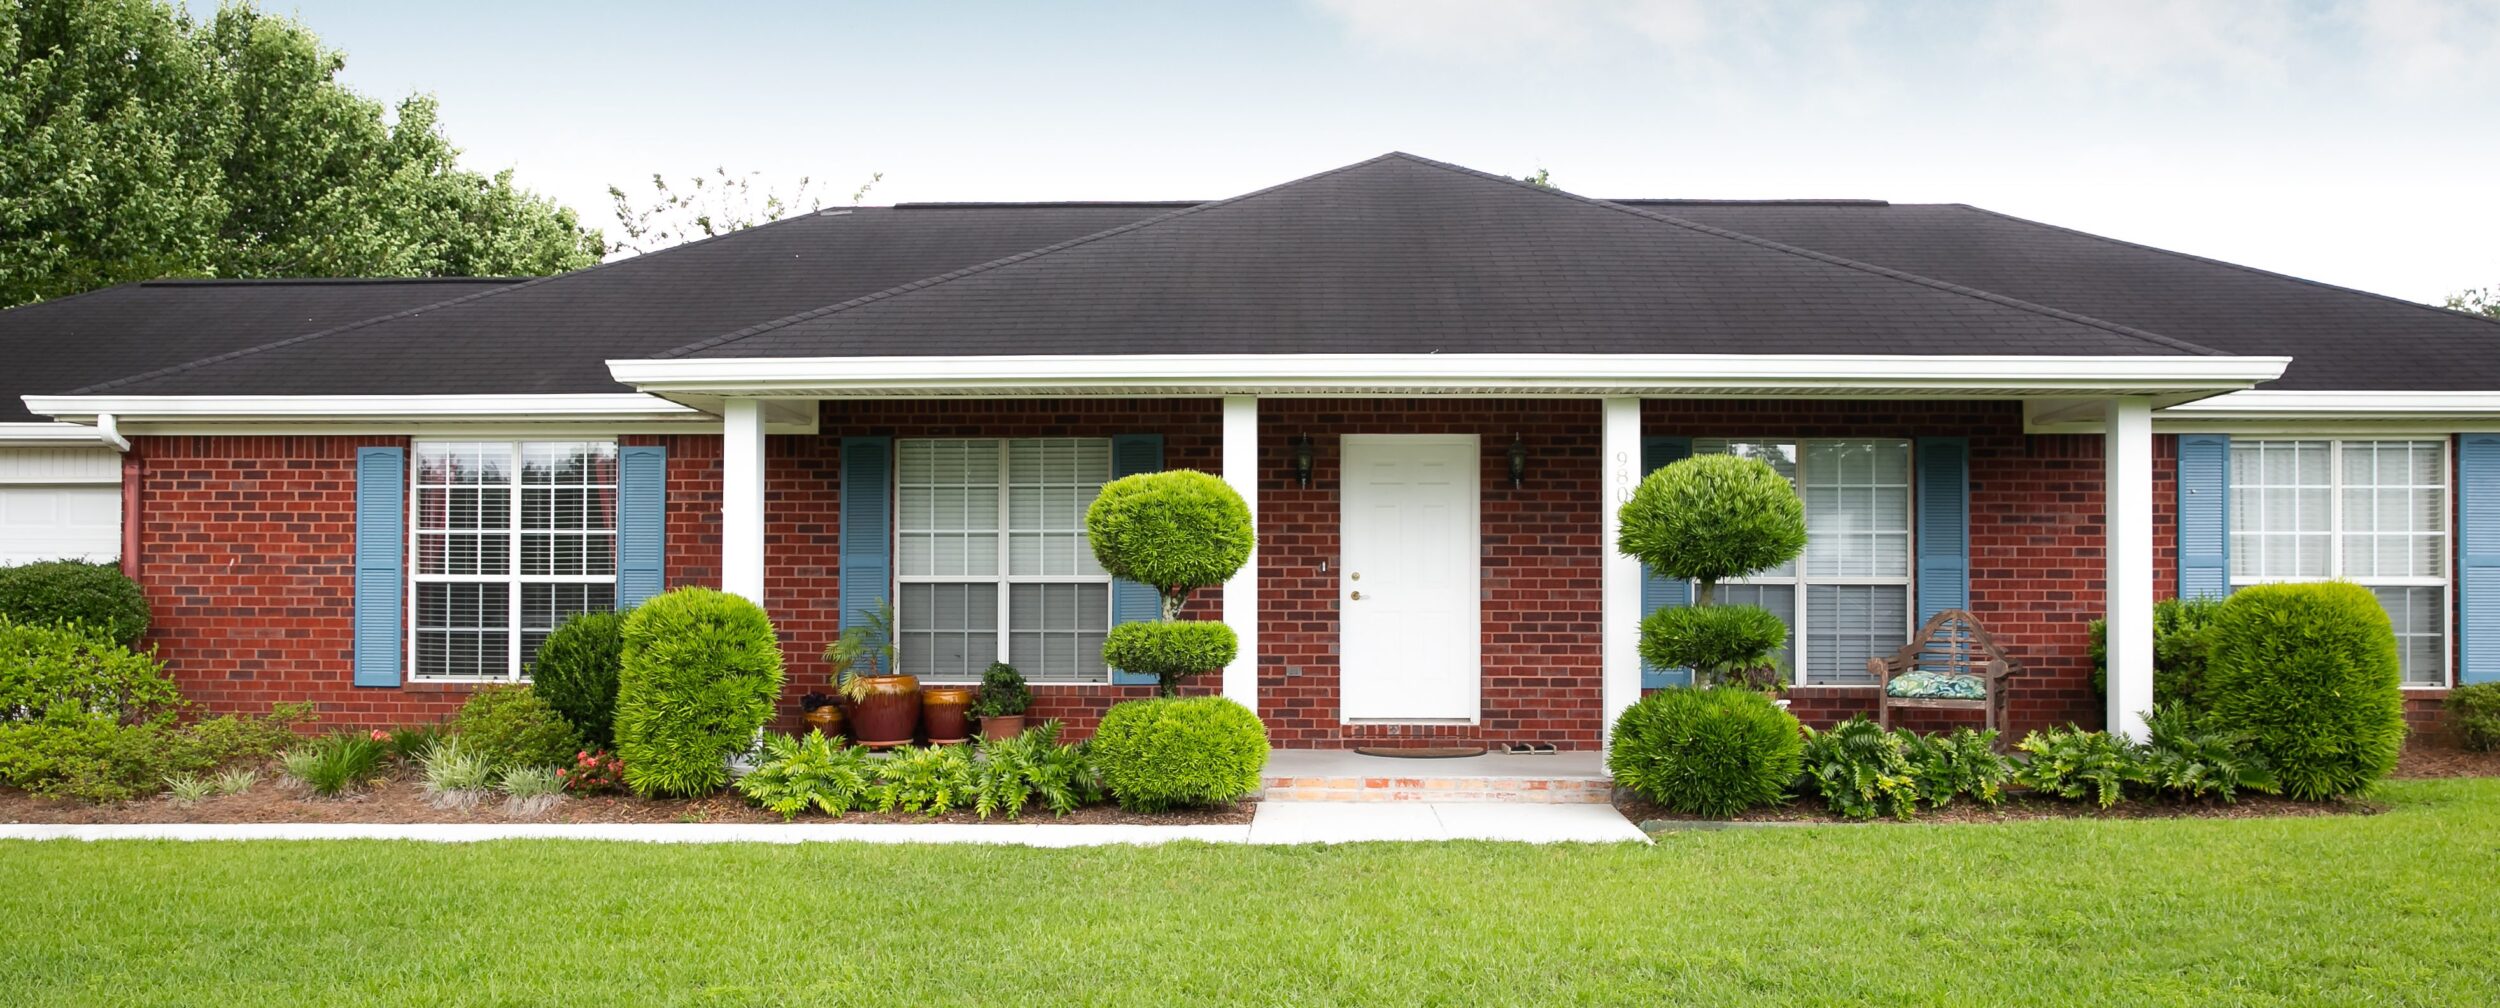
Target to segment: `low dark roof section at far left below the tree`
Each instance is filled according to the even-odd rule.
[[[40,420],[20,395],[68,393],[130,373],[388,315],[510,278],[148,280],[0,313],[0,423]]]

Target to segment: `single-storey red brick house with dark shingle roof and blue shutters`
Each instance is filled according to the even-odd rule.
[[[1192,603],[1242,638],[1195,690],[1285,748],[1592,748],[1678,680],[1638,620],[1690,598],[1612,508],[1722,450],[1808,500],[1808,555],[1722,593],[1788,618],[1810,720],[1970,608],[2030,670],[2015,730],[2125,730],[2152,600],[2255,580],[2372,585],[2425,725],[2500,678],[2500,325],[1962,205],[1382,155],[1215,203],[825,210],[300,325],[155,308],[228,345],[115,343],[172,323],[82,298],[0,313],[78,360],[12,393],[118,455],[122,563],[210,708],[432,720],[570,613],[720,585],[772,613],[792,708],[892,603],[905,670],[1010,660],[1082,730],[1150,693],[1098,648],[1152,613],[1082,508],[1198,468],[1260,548]]]

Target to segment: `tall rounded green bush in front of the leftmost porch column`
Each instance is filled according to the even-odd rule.
[[[772,620],[745,598],[678,588],[625,618],[618,758],[638,795],[710,795],[782,688]]]

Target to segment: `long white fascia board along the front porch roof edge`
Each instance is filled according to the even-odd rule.
[[[1268,353],[978,358],[635,358],[608,373],[658,395],[2210,395],[2290,358]]]

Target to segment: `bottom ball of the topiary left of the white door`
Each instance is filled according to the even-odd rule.
[[[1268,765],[1268,725],[1220,695],[1128,700],[1085,748],[1102,785],[1135,813],[1250,798]]]

